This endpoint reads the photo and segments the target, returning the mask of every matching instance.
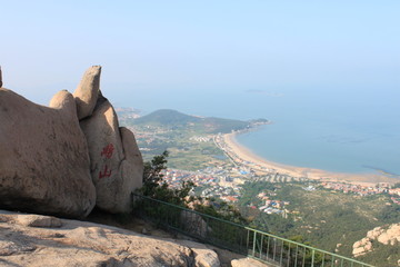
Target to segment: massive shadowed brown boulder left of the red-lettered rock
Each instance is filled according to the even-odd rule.
[[[50,106],[0,89],[0,207],[87,216],[96,189],[74,99],[61,91]]]

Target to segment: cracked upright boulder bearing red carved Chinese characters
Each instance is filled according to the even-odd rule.
[[[110,212],[131,210],[131,192],[141,187],[143,161],[133,134],[122,128],[111,103],[99,93],[93,113],[80,121],[90,155],[97,206]]]

